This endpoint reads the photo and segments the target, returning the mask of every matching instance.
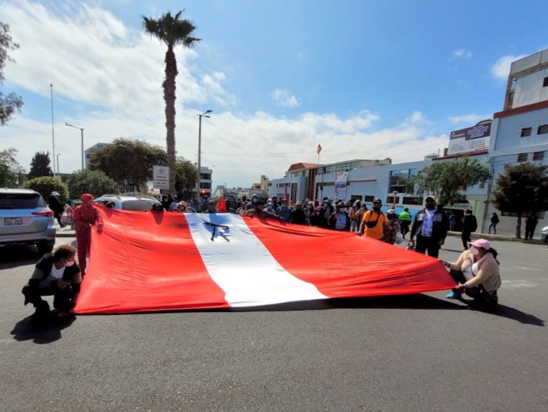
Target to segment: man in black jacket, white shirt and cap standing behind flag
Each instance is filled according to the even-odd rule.
[[[425,208],[415,215],[409,245],[415,247],[415,252],[422,254],[428,252],[429,256],[438,257],[440,247],[445,243],[447,230],[449,230],[449,218],[445,210],[437,207],[435,196],[428,195],[425,199]],[[415,236],[417,236],[416,245],[413,240]]]

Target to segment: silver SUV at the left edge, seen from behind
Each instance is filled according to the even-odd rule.
[[[0,189],[0,247],[35,244],[40,253],[55,245],[54,212],[39,192]]]

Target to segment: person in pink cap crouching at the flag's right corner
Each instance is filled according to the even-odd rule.
[[[472,308],[492,310],[497,307],[497,290],[501,284],[499,261],[497,251],[491,247],[489,240],[471,242],[469,249],[460,254],[457,262],[440,262],[449,269],[451,277],[457,282],[457,287],[447,294],[447,298],[460,299],[462,293],[465,293],[474,298],[470,302]]]

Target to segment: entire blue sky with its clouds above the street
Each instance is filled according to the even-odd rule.
[[[451,130],[502,109],[509,62],[548,47],[544,1],[29,1],[4,0],[0,20],[21,49],[2,91],[24,111],[0,129],[28,168],[51,151],[54,83],[61,172],[86,147],[117,137],[165,144],[165,48],[141,33],[141,15],[185,8],[203,41],[178,48],[178,153],[214,184],[282,177],[291,163],[351,158],[420,160]],[[76,144],[75,144],[76,143]]]

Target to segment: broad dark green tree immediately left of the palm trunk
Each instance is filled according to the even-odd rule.
[[[141,140],[119,138],[111,145],[94,150],[89,167],[105,172],[122,192],[146,192],[153,165],[166,165],[165,150]]]

